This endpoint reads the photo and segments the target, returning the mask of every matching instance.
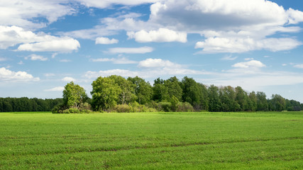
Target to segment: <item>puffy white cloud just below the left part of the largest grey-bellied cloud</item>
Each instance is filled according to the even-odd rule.
[[[159,30],[140,30],[128,32],[128,38],[134,38],[137,42],[187,42],[187,33],[159,28]]]

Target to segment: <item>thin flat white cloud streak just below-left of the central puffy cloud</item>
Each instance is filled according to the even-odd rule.
[[[153,47],[114,47],[110,48],[107,52],[112,54],[145,54],[148,52],[153,52]]]

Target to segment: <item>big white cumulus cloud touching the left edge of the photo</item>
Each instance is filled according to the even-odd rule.
[[[17,26],[0,26],[0,49],[19,45],[19,51],[70,52],[77,50],[80,44],[68,37],[55,37],[45,33],[33,33]]]

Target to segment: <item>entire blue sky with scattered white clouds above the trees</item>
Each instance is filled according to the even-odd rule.
[[[303,103],[301,0],[0,0],[0,97],[192,77]]]

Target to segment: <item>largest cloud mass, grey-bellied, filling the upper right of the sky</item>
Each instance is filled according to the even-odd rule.
[[[150,6],[150,20],[161,27],[200,33],[203,53],[292,50],[302,45],[294,38],[267,38],[276,33],[294,33],[303,13],[285,10],[264,0],[166,0]],[[198,52],[201,53],[201,52]]]

